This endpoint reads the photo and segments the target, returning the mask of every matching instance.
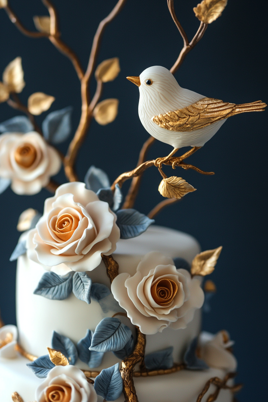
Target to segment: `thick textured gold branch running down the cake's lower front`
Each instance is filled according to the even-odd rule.
[[[146,337],[141,333],[138,327],[136,327],[136,330],[137,342],[135,349],[127,359],[122,361],[122,368],[120,370],[123,379],[125,402],[139,402],[133,381],[133,370],[137,363],[143,362]]]

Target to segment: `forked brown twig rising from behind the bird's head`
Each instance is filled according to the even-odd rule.
[[[176,16],[176,13],[174,10],[174,0],[168,0],[168,9],[169,9],[172,19],[173,19],[174,23],[176,24],[176,27],[178,28],[180,35],[182,36],[182,39],[183,39],[183,48],[180,51],[178,59],[176,60],[176,62],[172,66],[172,68],[170,69],[170,72],[172,74],[174,74],[178,70],[178,68],[182,65],[182,62],[184,61],[186,54],[189,53],[190,50],[192,50],[192,48],[196,45],[196,43],[198,43],[200,41],[200,39],[202,39],[202,37],[207,29],[207,24],[201,22],[196,34],[194,35],[192,40],[189,42],[187,35],[186,35],[184,29],[182,28],[182,26],[180,25],[178,18]]]

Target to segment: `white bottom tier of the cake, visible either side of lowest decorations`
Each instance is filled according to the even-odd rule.
[[[12,392],[18,392],[24,402],[35,400],[35,390],[43,379],[35,377],[26,366],[28,362],[24,357],[0,359],[1,402],[12,402]],[[139,402],[196,402],[198,395],[210,378],[223,379],[225,374],[225,371],[219,369],[182,370],[154,377],[135,377],[134,384]],[[215,386],[210,386],[202,401],[205,402],[215,389]],[[232,400],[233,394],[229,390],[221,390],[217,398],[217,402],[231,402]],[[125,398],[122,394],[117,402],[124,401]],[[103,398],[98,397],[98,402],[103,402]]]

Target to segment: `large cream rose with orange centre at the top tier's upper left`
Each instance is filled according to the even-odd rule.
[[[120,238],[116,215],[108,203],[85,188],[85,183],[59,186],[46,199],[44,214],[27,238],[30,259],[62,275],[92,271],[109,255]],[[51,268],[53,267],[53,268]]]

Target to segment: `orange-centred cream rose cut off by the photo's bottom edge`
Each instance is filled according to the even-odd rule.
[[[37,390],[37,402],[97,402],[94,386],[75,366],[55,366]]]

